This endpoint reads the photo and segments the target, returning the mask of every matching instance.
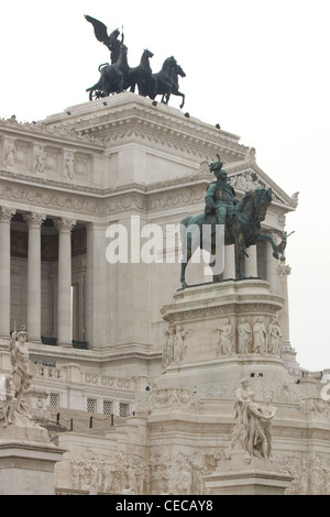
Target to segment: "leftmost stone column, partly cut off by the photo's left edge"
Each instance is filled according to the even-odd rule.
[[[0,207],[0,337],[10,336],[10,221],[15,210]]]

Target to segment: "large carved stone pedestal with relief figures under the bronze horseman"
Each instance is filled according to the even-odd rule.
[[[271,346],[270,324],[282,298],[253,278],[191,286],[163,308],[168,338],[158,387],[238,385],[242,377],[286,376],[282,352]],[[245,324],[246,339],[241,326]]]

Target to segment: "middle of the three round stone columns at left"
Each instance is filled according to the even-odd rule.
[[[28,330],[29,341],[41,342],[41,227],[46,216],[29,213]]]

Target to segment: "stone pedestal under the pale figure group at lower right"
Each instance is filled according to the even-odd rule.
[[[243,452],[220,462],[215,473],[204,476],[206,495],[284,495],[292,481],[270,460],[255,458],[246,464]]]

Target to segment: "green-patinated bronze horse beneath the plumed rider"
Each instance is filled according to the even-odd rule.
[[[257,187],[255,190],[250,190],[235,206],[235,215],[231,216],[224,229],[224,244],[234,244],[235,250],[235,273],[238,278],[245,278],[241,261],[244,256],[245,248],[256,244],[260,241],[268,241],[273,248],[273,255],[278,258],[277,245],[272,235],[262,233],[261,221],[266,217],[267,208],[272,202],[272,189]],[[199,216],[189,216],[182,221],[182,243],[185,251],[182,262],[180,283],[183,288],[187,287],[186,283],[186,267],[197,248],[202,248],[204,226],[211,224],[211,246],[208,251],[212,256],[217,256],[217,240],[216,240],[216,216],[209,220],[209,216],[205,213]],[[189,232],[189,227],[195,226],[198,232]],[[212,265],[212,264],[210,264]],[[215,275],[215,280],[220,280],[220,275]]]

